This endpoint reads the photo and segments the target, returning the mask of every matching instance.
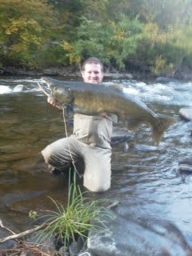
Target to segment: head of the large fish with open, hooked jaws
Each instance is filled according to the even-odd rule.
[[[51,78],[42,78],[38,86],[49,98],[53,98],[60,106],[72,103],[74,100],[73,91],[70,86],[59,85]]]

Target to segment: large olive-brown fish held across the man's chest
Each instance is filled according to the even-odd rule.
[[[146,123],[151,127],[155,142],[159,142],[164,130],[175,122],[174,118],[155,114],[144,103],[110,86],[64,82],[51,78],[41,78],[38,86],[58,105],[72,109],[74,114],[116,114],[118,120],[127,123],[129,130],[135,130]]]

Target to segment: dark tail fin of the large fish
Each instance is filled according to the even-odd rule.
[[[158,122],[154,122],[152,127],[153,138],[155,142],[159,142],[163,132],[176,122],[175,118],[169,117],[164,114],[158,114]]]

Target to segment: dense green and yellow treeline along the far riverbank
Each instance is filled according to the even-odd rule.
[[[116,70],[192,66],[190,0],[0,0],[0,10],[0,66],[69,66],[92,55]]]

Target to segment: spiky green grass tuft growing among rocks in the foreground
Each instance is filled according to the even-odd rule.
[[[46,211],[47,226],[44,230],[38,231],[38,240],[56,236],[58,240],[62,239],[64,246],[68,246],[71,242],[81,238],[87,238],[88,231],[106,229],[104,221],[99,216],[107,215],[107,217],[115,218],[114,214],[106,207],[102,206],[106,199],[90,201],[85,198],[86,192],[82,193],[80,187],[76,184],[76,173],[74,173],[74,182],[70,182],[67,206],[62,206],[61,202],[50,200],[54,203],[55,211]],[[90,223],[91,221],[91,223]],[[97,224],[93,224],[97,223]]]

